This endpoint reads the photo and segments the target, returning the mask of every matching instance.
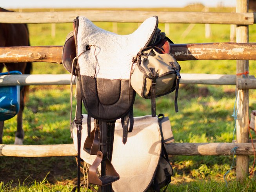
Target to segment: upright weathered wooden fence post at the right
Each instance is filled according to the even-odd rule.
[[[248,0],[236,0],[236,12],[248,12]],[[248,42],[248,25],[236,26],[236,42]],[[249,72],[249,61],[238,60],[236,62],[237,78],[247,78]],[[236,85],[238,87],[238,85]],[[238,143],[247,143],[249,141],[249,90],[237,89],[237,120],[236,137]],[[236,179],[244,181],[248,174],[249,156],[238,155],[236,157]]]

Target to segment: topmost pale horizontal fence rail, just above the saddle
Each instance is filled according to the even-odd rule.
[[[160,23],[254,24],[253,13],[107,10],[0,12],[0,23],[69,23],[73,22],[76,16],[86,16],[93,22],[143,22],[145,19],[154,15],[158,16]]]

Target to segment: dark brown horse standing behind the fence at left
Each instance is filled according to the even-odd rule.
[[[0,8],[0,11],[8,11]],[[29,46],[29,32],[26,24],[4,24],[0,23],[0,47]],[[22,74],[30,74],[32,63],[0,63],[0,72],[4,66],[7,71],[20,71]],[[17,114],[17,132],[15,133],[15,144],[22,144],[24,130],[22,129],[22,113],[24,109],[25,94],[28,86],[20,90],[20,110]],[[0,121],[0,143],[2,143],[4,121]]]

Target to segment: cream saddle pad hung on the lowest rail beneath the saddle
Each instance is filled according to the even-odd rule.
[[[81,158],[92,165],[95,155],[83,150],[87,137],[87,115],[83,114]],[[91,121],[92,128],[94,120]],[[73,126],[73,141],[77,150],[76,125]],[[161,133],[158,118],[142,116],[134,118],[134,127],[128,133],[127,143],[122,143],[123,129],[121,121],[116,121],[112,164],[120,179],[112,183],[115,192],[144,191],[151,184],[161,152]],[[99,167],[100,168],[100,167]]]

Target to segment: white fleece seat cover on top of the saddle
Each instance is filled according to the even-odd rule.
[[[158,27],[158,18],[153,16],[133,33],[118,35],[97,27],[83,16],[78,17],[78,20],[77,55],[80,55],[80,74],[111,80],[129,79],[133,57],[149,45]],[[86,51],[88,45],[91,45],[90,51]]]

